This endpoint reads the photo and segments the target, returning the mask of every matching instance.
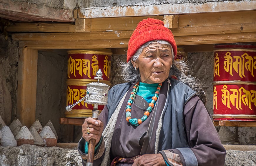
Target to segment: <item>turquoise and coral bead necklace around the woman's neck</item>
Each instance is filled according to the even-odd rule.
[[[147,117],[149,116],[149,114],[152,111],[152,108],[154,107],[154,103],[157,101],[158,96],[159,96],[159,92],[160,89],[162,87],[162,83],[158,84],[157,90],[154,94],[154,96],[152,97],[152,101],[149,103],[149,107],[147,108],[147,110],[144,112],[144,116],[142,116],[141,119],[137,119],[137,118],[131,118],[131,105],[133,103],[133,97],[135,96],[135,94],[137,93],[138,89],[139,89],[139,82],[137,82],[134,87],[133,90],[131,92],[130,98],[127,102],[127,106],[126,106],[126,121],[129,122],[131,125],[133,126],[139,126],[142,122],[144,122]]]

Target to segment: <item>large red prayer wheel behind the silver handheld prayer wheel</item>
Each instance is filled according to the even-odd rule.
[[[109,49],[97,50],[69,50],[68,51],[68,79],[67,79],[67,106],[79,101],[86,95],[87,84],[97,82],[96,72],[102,70],[100,82],[110,85],[111,55]],[[98,109],[102,110],[103,105]],[[66,117],[90,117],[93,105],[84,101],[65,112]]]

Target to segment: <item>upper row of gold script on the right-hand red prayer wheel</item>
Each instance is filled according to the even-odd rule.
[[[229,72],[230,75],[233,76],[232,70],[234,69],[235,72],[238,73],[238,75],[243,78],[246,77],[245,70],[251,73],[251,75],[254,77],[254,70],[256,69],[256,57],[252,57],[248,55],[247,53],[244,53],[241,56],[230,56],[230,52],[226,52],[224,56],[224,70],[226,72]],[[215,57],[216,60],[216,57]],[[215,62],[216,63],[216,62]]]

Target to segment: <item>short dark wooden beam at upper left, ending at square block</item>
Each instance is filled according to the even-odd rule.
[[[73,23],[14,23],[7,26],[8,32],[75,32]]]

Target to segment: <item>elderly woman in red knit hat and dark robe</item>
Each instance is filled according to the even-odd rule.
[[[112,87],[99,120],[82,125],[83,164],[94,138],[94,165],[224,165],[226,151],[205,94],[176,55],[172,32],[161,20],[138,24],[121,64],[128,83]]]

